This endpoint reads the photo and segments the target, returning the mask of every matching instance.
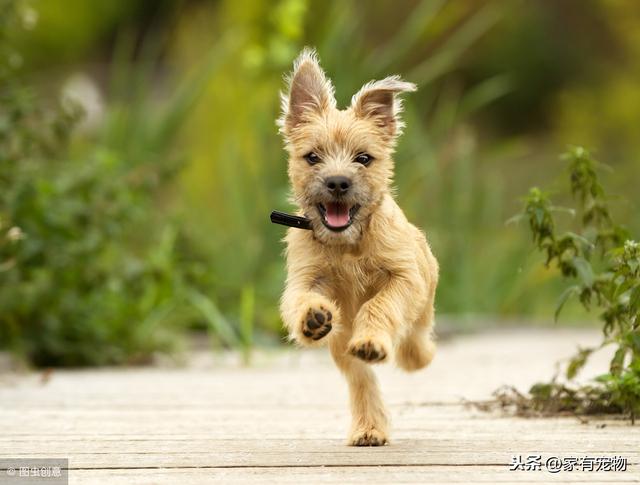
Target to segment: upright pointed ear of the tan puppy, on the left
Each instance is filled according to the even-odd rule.
[[[280,132],[285,136],[305,123],[309,114],[322,113],[336,105],[333,85],[322,71],[313,49],[305,48],[300,53],[287,84],[288,92],[281,93],[282,114],[278,119]]]

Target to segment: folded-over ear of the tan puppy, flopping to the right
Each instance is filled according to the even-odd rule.
[[[351,109],[358,118],[370,119],[391,138],[402,132],[404,123],[400,118],[402,100],[398,94],[415,91],[416,85],[390,76],[381,81],[371,81],[351,99]]]

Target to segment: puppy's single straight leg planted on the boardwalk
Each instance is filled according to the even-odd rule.
[[[381,446],[388,442],[387,411],[371,366],[347,352],[347,336],[330,342],[331,354],[349,384],[351,446]]]

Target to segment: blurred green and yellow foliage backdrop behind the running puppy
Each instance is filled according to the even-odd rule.
[[[562,202],[568,144],[640,229],[636,2],[0,0],[0,348],[77,366],[282,344],[274,120],[305,45],[342,107],[373,78],[419,86],[396,185],[445,331],[552,323],[562,283],[505,221],[531,185]]]

